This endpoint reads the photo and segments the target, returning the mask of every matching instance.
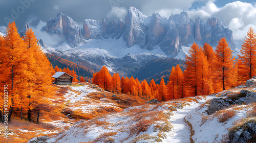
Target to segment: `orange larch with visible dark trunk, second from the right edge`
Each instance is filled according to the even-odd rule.
[[[234,66],[234,58],[232,58],[232,50],[225,37],[219,40],[214,62],[215,80],[222,86],[222,90],[228,89],[228,79],[233,74],[231,70]]]

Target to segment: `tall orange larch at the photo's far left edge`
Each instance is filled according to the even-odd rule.
[[[8,85],[8,121],[11,121],[12,112],[20,108],[19,102],[28,92],[28,77],[31,72],[28,70],[29,55],[27,47],[22,38],[20,38],[15,22],[8,25],[6,36],[4,37],[5,45],[1,47],[1,57],[5,69],[5,79],[2,87]],[[4,93],[4,90],[3,92]]]

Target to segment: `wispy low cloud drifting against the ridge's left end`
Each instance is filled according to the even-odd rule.
[[[56,34],[51,35],[45,31],[40,31],[43,26],[46,26],[46,22],[40,20],[36,27],[31,27],[37,39],[42,39],[49,46],[56,46],[65,41],[65,37],[60,37]]]

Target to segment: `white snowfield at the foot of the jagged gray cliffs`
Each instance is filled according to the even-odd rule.
[[[156,46],[154,50],[148,51],[146,49],[141,49],[138,45],[134,45],[132,47],[127,47],[122,38],[118,40],[115,39],[91,39],[88,40],[87,43],[81,44],[75,48],[70,47],[67,43],[63,43],[56,47],[48,47],[50,52],[55,52],[55,50],[60,50],[66,53],[79,53],[80,55],[108,55],[112,57],[123,57],[128,53],[132,55],[137,54],[156,54],[156,55],[164,55],[164,52],[160,49],[159,46]]]

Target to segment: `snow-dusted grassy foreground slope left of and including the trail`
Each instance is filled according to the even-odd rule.
[[[122,112],[100,116],[91,121],[76,124],[66,133],[59,134],[55,138],[48,140],[48,142],[106,142],[111,140],[115,140],[115,142],[130,142],[134,140],[138,142],[190,142],[190,130],[184,122],[184,117],[211,98],[213,97],[201,97],[199,100],[194,98],[192,102],[170,101],[158,105],[129,107]],[[183,105],[182,109],[170,111],[175,106]],[[155,121],[154,118],[160,114],[166,114],[169,119]],[[153,123],[149,124],[147,122]],[[141,128],[140,124],[143,124],[143,126],[148,125],[146,130],[143,130],[144,128]],[[170,126],[169,132],[168,130],[162,132],[157,127],[168,129],[166,125]]]

